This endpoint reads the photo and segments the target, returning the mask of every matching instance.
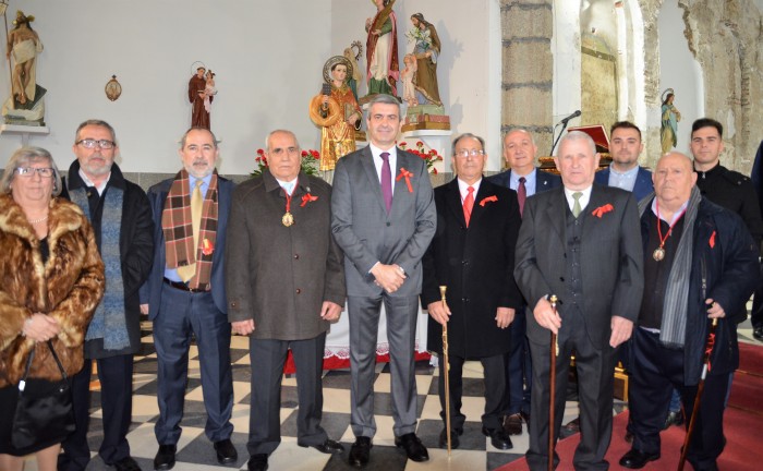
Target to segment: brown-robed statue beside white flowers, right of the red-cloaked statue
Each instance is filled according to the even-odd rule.
[[[415,13],[411,16],[413,29],[408,32],[409,41],[415,41],[413,55],[416,58],[416,73],[413,85],[421,105],[443,105],[437,87],[437,58],[440,52],[439,37],[435,26]]]

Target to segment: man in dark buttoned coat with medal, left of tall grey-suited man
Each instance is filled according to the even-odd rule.
[[[267,137],[268,168],[233,192],[226,282],[233,331],[250,336],[250,471],[265,471],[278,448],[281,378],[296,364],[296,444],[325,454],[342,445],[320,426],[326,331],[344,304],[342,253],[331,237],[331,186],[301,172],[290,131]]]

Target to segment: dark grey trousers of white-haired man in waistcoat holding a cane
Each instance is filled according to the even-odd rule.
[[[569,336],[560,341],[556,359],[556,391],[554,436],[559,437],[565,413],[565,392],[570,357],[576,351],[578,369],[581,439],[576,449],[576,470],[606,470],[609,464],[604,455],[611,439],[613,394],[617,349],[608,345],[597,349],[585,330],[580,314],[570,310],[565,316],[565,327],[571,327]],[[550,333],[548,334],[550,338]],[[530,413],[530,448],[526,458],[531,470],[548,467],[548,409],[550,347],[530,341],[533,361],[533,390]],[[666,402],[667,404],[667,402]],[[555,466],[559,458],[554,452]]]

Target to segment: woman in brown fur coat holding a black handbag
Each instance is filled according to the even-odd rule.
[[[24,394],[45,394],[61,379],[47,341],[66,373],[83,366],[87,324],[104,294],[104,264],[80,207],[55,197],[61,176],[50,154],[16,150],[0,179],[0,469],[20,471],[33,452],[56,470],[60,443],[14,448],[11,427],[29,352]]]

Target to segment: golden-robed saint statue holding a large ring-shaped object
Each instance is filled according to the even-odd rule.
[[[310,102],[310,119],[320,126],[322,171],[331,171],[339,158],[355,150],[355,131],[363,113],[348,86],[352,64],[344,56],[334,56],[324,64],[324,93]]]

